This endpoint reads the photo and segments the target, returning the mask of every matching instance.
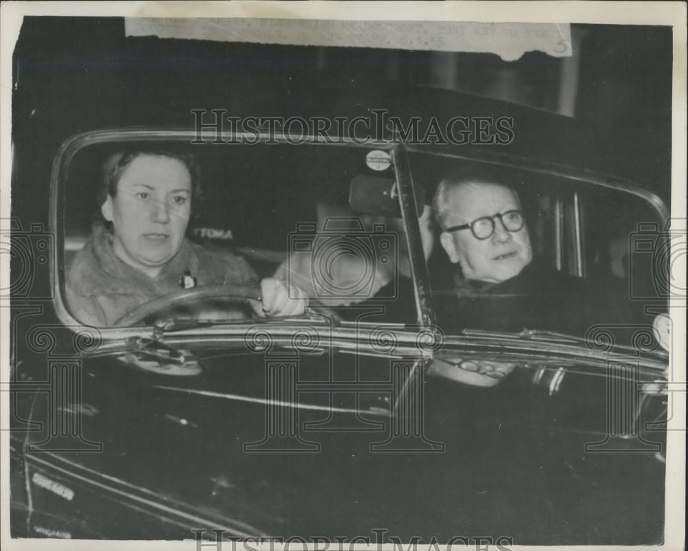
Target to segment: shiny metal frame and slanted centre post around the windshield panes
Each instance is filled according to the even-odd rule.
[[[54,159],[51,175],[50,185],[50,216],[49,227],[50,232],[56,236],[56,247],[53,251],[52,258],[50,258],[50,278],[53,289],[53,304],[56,310],[58,319],[65,324],[65,326],[75,328],[75,331],[83,330],[84,324],[79,322],[72,316],[65,304],[65,209],[63,205],[65,196],[65,185],[63,184],[67,179],[67,171],[69,164],[76,153],[82,148],[98,143],[107,142],[126,142],[126,141],[140,141],[141,139],[158,139],[160,141],[189,141],[191,143],[194,139],[206,139],[206,143],[211,143],[211,138],[217,139],[215,131],[202,131],[197,133],[192,128],[164,128],[164,127],[127,127],[127,128],[104,128],[100,130],[87,131],[69,137],[62,146],[58,149],[58,153]],[[274,144],[282,143],[289,144],[292,136],[286,133],[259,133],[256,138],[255,133],[241,133],[235,131],[226,131],[222,133],[222,139],[225,140],[250,140],[249,143],[266,143]],[[303,139],[303,137],[299,137]],[[413,289],[416,297],[416,311],[418,313],[418,327],[430,328],[434,330],[436,313],[433,309],[430,296],[429,275],[427,269],[427,262],[424,258],[422,250],[422,243],[420,240],[420,225],[418,223],[418,205],[416,204],[416,194],[413,184],[413,167],[409,162],[409,153],[422,153],[430,155],[438,155],[440,157],[450,157],[456,161],[467,162],[481,162],[491,165],[498,165],[504,168],[514,168],[515,170],[528,170],[536,172],[539,175],[549,175],[563,180],[581,183],[585,185],[599,185],[603,188],[610,188],[626,192],[640,197],[645,202],[649,203],[658,215],[660,220],[667,220],[669,212],[663,201],[654,192],[651,192],[641,186],[634,185],[629,181],[610,177],[608,175],[600,175],[585,169],[575,169],[566,165],[558,165],[551,163],[544,163],[542,161],[535,161],[524,157],[513,157],[500,153],[489,153],[485,151],[471,151],[469,153],[448,153],[444,148],[436,150],[431,145],[409,145],[403,144],[394,140],[374,140],[372,142],[361,143],[355,138],[343,138],[338,142],[331,142],[329,139],[319,135],[308,135],[303,139],[302,146],[309,145],[327,145],[330,147],[356,147],[369,150],[382,149],[386,150],[391,155],[391,160],[395,168],[396,185],[398,186],[399,194],[398,201],[400,204],[402,221],[405,227],[407,237],[407,247],[409,253],[409,260],[411,262],[411,276],[413,280]],[[62,183],[62,185],[61,185]],[[579,250],[579,271],[583,269],[584,255],[581,251],[583,247],[583,212],[580,201],[577,203],[577,210],[574,216],[574,231],[576,247]],[[563,246],[563,244],[562,244]],[[584,273],[584,272],[583,272]],[[306,317],[307,322],[312,322],[312,318]],[[255,325],[259,320],[251,320],[250,325]],[[291,320],[293,321],[293,319]],[[224,334],[240,332],[243,328],[246,330],[246,323],[233,322],[232,324],[219,324],[222,327]],[[398,324],[391,324],[392,326]],[[231,327],[230,327],[231,326]],[[345,326],[344,326],[345,327]],[[107,337],[107,339],[115,339],[122,341],[122,339],[131,335],[140,335],[142,328],[147,326],[133,326],[127,328],[97,328],[100,332],[100,337]],[[203,329],[208,333],[208,328]],[[184,332],[180,332],[182,335]],[[192,331],[193,333],[193,331]],[[212,331],[210,333],[215,333]]]

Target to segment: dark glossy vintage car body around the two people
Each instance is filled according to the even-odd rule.
[[[639,341],[627,347],[614,343],[619,328],[604,324],[586,340],[546,330],[451,333],[436,319],[414,198],[418,188],[431,196],[452,164],[528,175],[524,189],[550,213],[538,243],[556,269],[580,278],[614,277],[610,240],[599,238],[612,215],[654,223],[654,238],[663,229],[667,209],[652,188],[589,170],[590,144],[572,120],[397,82],[328,92],[279,81],[253,95],[233,89],[236,99],[227,100],[217,89],[230,81],[191,97],[184,90],[193,74],[175,76],[171,91],[141,84],[142,73],[129,77],[126,104],[104,105],[89,87],[96,80],[78,77],[52,98],[74,111],[56,113],[27,71],[24,86],[35,93],[14,106],[10,233],[13,536],[375,541],[378,529],[445,543],[485,533],[524,544],[660,539],[666,396],[657,387],[668,357],[652,340],[652,315],[633,326]],[[199,140],[193,113],[334,121],[368,116],[372,106],[416,115],[421,125],[457,114],[508,117],[514,139],[405,144],[383,131],[365,144],[354,133],[292,145],[288,133],[261,130],[243,134],[257,144],[212,144],[242,134],[204,128]],[[366,322],[316,310],[156,328],[81,324],[65,301],[65,271],[88,238],[100,161],[125,142],[193,148],[218,195],[192,235],[239,251],[261,275],[288,258],[297,223],[314,221],[313,204],[310,219],[299,211],[314,185],[336,178],[337,196],[346,196],[364,175],[362,185],[375,188],[365,159],[387,153],[402,222],[390,239],[409,259],[415,319]],[[662,296],[645,293],[652,266],[637,258],[644,275],[621,274],[615,285],[665,308]],[[186,372],[165,360],[182,350]],[[489,389],[431,374],[434,362],[456,358],[519,368]],[[631,393],[628,409],[614,392]]]

